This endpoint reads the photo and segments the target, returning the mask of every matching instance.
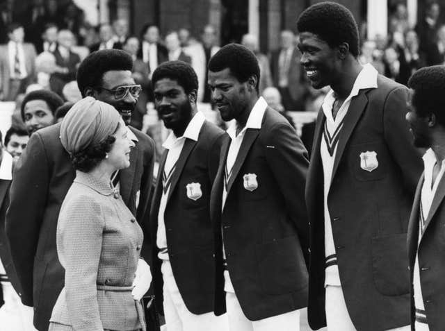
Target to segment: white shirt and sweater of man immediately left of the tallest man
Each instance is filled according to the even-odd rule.
[[[227,160],[225,163],[225,171],[227,173],[232,173],[232,168],[234,167],[236,157],[238,156],[239,148],[243,143],[245,131],[248,128],[253,129],[261,129],[261,122],[263,121],[264,112],[266,112],[267,103],[266,100],[263,99],[262,96],[259,97],[257,102],[254,104],[252,111],[249,114],[248,121],[245,123],[245,127],[241,130],[238,135],[236,135],[236,121],[233,121],[232,124],[227,128],[227,134],[232,139],[230,142],[229,151],[227,152]],[[227,191],[226,191],[226,183],[229,182],[230,176],[224,177],[224,185],[223,185],[223,211],[225,206],[225,201],[227,199]],[[225,259],[225,250],[224,250],[224,237],[223,237],[223,257]],[[230,280],[229,271],[224,271],[225,285],[224,290],[226,292],[234,293],[234,287],[232,285],[232,281]]]

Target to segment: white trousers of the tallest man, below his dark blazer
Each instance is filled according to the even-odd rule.
[[[327,331],[357,331],[351,321],[346,308],[343,289],[341,286],[326,286],[326,324]],[[410,331],[411,326],[406,325],[387,331]]]

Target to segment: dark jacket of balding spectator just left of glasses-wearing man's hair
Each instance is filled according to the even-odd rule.
[[[56,58],[56,65],[68,69],[66,74],[55,72],[54,74],[51,74],[51,77],[49,78],[49,86],[51,87],[51,90],[62,95],[62,90],[65,84],[72,80],[76,80],[77,65],[81,62],[81,58],[78,54],[70,51],[70,55],[65,59],[60,55],[58,48],[56,48],[53,54],[54,58]]]

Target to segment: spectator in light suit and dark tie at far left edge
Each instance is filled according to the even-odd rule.
[[[35,81],[35,48],[24,43],[19,23],[8,26],[9,42],[0,45],[0,100],[14,101],[26,86]]]

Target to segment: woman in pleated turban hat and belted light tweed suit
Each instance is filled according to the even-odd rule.
[[[127,127],[113,106],[86,97],[67,112],[60,140],[76,178],[58,217],[65,287],[49,330],[145,330],[143,307],[131,293],[143,232],[111,180],[130,165]]]

